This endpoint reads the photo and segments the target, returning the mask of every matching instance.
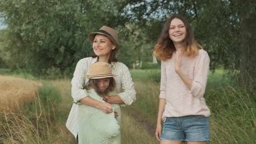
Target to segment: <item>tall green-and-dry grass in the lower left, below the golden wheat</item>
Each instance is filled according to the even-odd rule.
[[[0,109],[0,144],[74,143],[73,139],[66,139],[68,137],[59,132],[59,125],[65,126],[63,121],[59,122],[63,119],[59,109],[62,101],[59,92],[45,84],[24,97],[30,97],[31,100],[13,101],[13,105],[18,103],[15,109],[12,109],[12,105]]]

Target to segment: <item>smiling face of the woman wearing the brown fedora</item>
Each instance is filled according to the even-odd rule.
[[[92,44],[93,52],[99,57],[110,56],[111,50],[115,48],[115,45],[112,43],[107,36],[96,34]]]

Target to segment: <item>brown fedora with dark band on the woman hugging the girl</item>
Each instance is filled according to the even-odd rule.
[[[115,48],[117,48],[117,49],[120,48],[119,43],[118,43],[118,35],[114,29],[112,29],[108,26],[102,26],[102,28],[100,28],[98,30],[98,32],[89,33],[88,38],[90,39],[91,43],[93,43],[94,36],[96,34],[102,34],[102,35],[107,36],[112,41],[112,43],[115,44]]]

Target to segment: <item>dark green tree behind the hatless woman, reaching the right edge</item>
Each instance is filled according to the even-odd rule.
[[[146,23],[163,23],[173,13],[186,17],[197,41],[209,53],[210,68],[224,65],[228,74],[240,74],[240,84],[256,82],[256,2],[255,0],[126,0],[122,13],[132,23],[143,27]],[[143,35],[160,33],[159,28],[148,28]],[[157,35],[151,38],[155,41]]]

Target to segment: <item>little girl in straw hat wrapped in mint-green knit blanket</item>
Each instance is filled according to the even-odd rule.
[[[91,65],[89,81],[84,88],[88,95],[101,102],[105,96],[116,93],[115,77],[108,63],[96,62]],[[104,111],[89,105],[79,105],[78,108],[78,137],[79,144],[121,144],[120,124],[121,111],[119,104],[111,104],[114,112],[105,114]]]

